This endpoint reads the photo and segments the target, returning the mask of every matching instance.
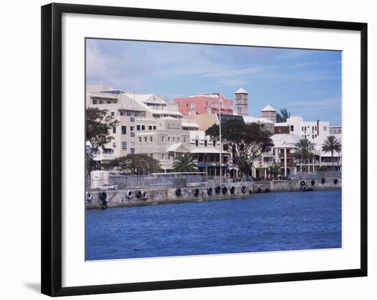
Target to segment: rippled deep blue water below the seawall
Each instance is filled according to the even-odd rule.
[[[341,247],[341,190],[86,211],[86,260]]]

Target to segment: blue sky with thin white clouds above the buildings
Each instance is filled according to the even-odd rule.
[[[243,88],[251,116],[269,104],[341,125],[341,51],[87,39],[86,84],[170,101]]]

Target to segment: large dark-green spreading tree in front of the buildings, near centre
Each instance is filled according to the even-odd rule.
[[[206,134],[219,139],[219,125],[212,125]],[[245,124],[241,120],[229,120],[221,124],[221,141],[232,145],[233,158],[242,175],[247,175],[254,160],[273,147],[271,133],[263,131],[255,124]]]

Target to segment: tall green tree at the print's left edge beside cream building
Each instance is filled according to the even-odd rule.
[[[117,127],[119,121],[115,120],[108,114],[108,110],[100,110],[99,108],[86,108],[86,140],[90,142],[90,154],[97,149],[104,148],[105,145],[113,140],[110,136],[110,129]]]

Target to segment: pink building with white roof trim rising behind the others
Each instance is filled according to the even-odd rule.
[[[195,110],[198,114],[218,114],[220,103],[223,114],[233,114],[233,99],[226,99],[221,93],[174,99],[174,104],[178,104],[181,114],[189,114],[191,110]]]

